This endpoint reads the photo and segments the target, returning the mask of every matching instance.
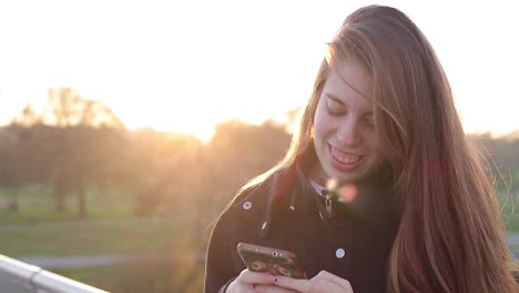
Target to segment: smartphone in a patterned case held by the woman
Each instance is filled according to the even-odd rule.
[[[293,252],[248,243],[238,243],[236,249],[247,269],[253,272],[307,279]]]

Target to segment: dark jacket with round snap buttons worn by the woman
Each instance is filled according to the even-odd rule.
[[[211,236],[205,292],[218,292],[245,269],[240,242],[294,252],[308,277],[325,270],[348,280],[355,293],[386,292],[397,216],[390,184],[379,173],[357,185],[353,203],[334,202],[332,216],[298,170],[236,196]]]

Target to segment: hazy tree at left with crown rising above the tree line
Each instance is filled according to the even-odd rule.
[[[32,135],[40,141],[32,148],[40,146],[52,158],[52,163],[47,163],[47,171],[52,182],[55,210],[64,211],[67,194],[77,193],[79,214],[86,218],[86,183],[100,179],[96,164],[106,159],[103,152],[113,154],[112,149],[100,149],[100,143],[108,140],[106,135],[114,134],[106,131],[108,128],[116,132],[123,131],[124,125],[103,102],[83,99],[71,88],[50,89],[48,94],[41,113],[27,105],[12,123],[26,129],[34,127]],[[35,128],[39,124],[50,127],[52,131],[42,135],[43,129]],[[39,132],[34,132],[37,130]],[[18,133],[19,139],[23,135],[27,137]]]

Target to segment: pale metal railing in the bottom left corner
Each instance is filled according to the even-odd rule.
[[[0,274],[35,293],[109,293],[1,254]]]

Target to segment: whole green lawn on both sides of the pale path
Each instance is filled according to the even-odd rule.
[[[68,212],[55,213],[42,188],[17,191],[19,211],[0,210],[0,253],[11,257],[77,255],[161,255],[155,261],[91,267],[51,269],[79,282],[124,293],[201,292],[203,267],[190,255],[206,243],[193,243],[196,229],[187,213],[175,216],[133,214],[133,199],[113,192],[88,194],[89,219],[77,216],[77,199],[67,199]],[[0,206],[12,193],[0,190]],[[193,232],[194,231],[194,232]],[[180,253],[182,252],[182,253]],[[190,272],[195,272],[186,283]]]

